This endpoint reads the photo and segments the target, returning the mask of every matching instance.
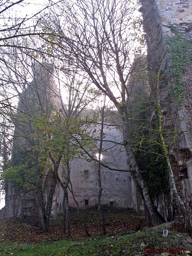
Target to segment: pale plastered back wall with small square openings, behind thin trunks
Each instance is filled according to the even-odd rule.
[[[94,136],[99,135],[99,126],[94,126]],[[102,162],[110,168],[122,169],[125,172],[113,171],[104,166],[101,168],[102,179],[102,198],[101,204],[136,209],[135,200],[132,196],[134,183],[131,182],[128,169],[127,157],[125,149],[121,145],[115,143],[122,142],[122,135],[116,127],[105,125],[104,128],[105,140],[102,147]],[[112,143],[111,141],[114,141]],[[98,148],[95,148],[93,155],[98,153]],[[95,207],[98,204],[99,183],[97,177],[98,163],[94,160],[74,159],[70,163],[71,173],[70,180],[73,185],[73,191],[79,207],[81,209],[87,207]],[[62,172],[62,168],[60,169]],[[139,196],[138,196],[139,197]],[[60,186],[57,186],[53,199],[52,216],[62,212],[63,192]],[[76,208],[76,203],[73,200],[73,195],[69,192],[69,206]]]

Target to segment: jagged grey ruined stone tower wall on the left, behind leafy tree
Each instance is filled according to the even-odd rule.
[[[12,148],[12,166],[21,166],[28,161],[28,156],[35,156],[28,148],[37,143],[34,137],[31,120],[38,120],[48,105],[59,102],[57,99],[52,67],[48,64],[35,64],[33,81],[28,83],[26,90],[20,94],[17,116],[15,118],[15,132]],[[33,160],[35,162],[35,160]],[[30,177],[29,177],[30,179]],[[35,198],[35,184],[31,181],[30,188],[20,187],[15,182],[6,184],[5,218],[19,217],[32,225],[39,225],[39,211]]]

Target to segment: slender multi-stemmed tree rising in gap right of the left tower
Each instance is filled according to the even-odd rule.
[[[87,125],[85,125],[84,127],[84,124],[85,124],[84,119],[86,119],[86,115],[84,116],[83,113],[84,113],[84,108],[86,108],[87,105],[93,102],[94,97],[91,97],[91,95],[89,95],[90,84],[88,81],[84,82],[83,79],[78,76],[78,74],[70,71],[68,72],[65,71],[63,75],[65,79],[62,79],[62,80],[59,79],[59,76],[58,76],[58,84],[59,84],[61,94],[63,90],[64,102],[66,102],[66,104],[62,103],[62,106],[60,108],[60,111],[61,111],[60,117],[62,122],[64,122],[65,124],[63,125],[63,128],[60,129],[60,132],[63,133],[63,136],[65,136],[66,152],[65,152],[65,155],[62,155],[62,159],[61,159],[61,163],[63,167],[58,169],[57,172],[55,173],[57,173],[56,176],[57,176],[58,182],[61,184],[61,187],[64,192],[63,232],[66,233],[65,221],[67,220],[67,236],[70,236],[71,233],[70,233],[70,212],[69,212],[68,190],[72,192],[73,199],[76,202],[78,212],[79,212],[79,204],[76,201],[75,195],[73,193],[73,186],[70,180],[71,179],[70,162],[73,159],[73,157],[79,157],[79,155],[82,154],[81,151],[79,152],[79,146],[76,143],[74,143],[73,136],[77,138],[79,137],[79,133],[84,134],[84,136],[87,133],[86,131],[87,125],[90,125],[90,124],[87,123]],[[81,126],[83,128],[81,128]],[[86,139],[84,139],[84,141],[85,140]],[[90,145],[88,145],[87,148],[89,148]],[[55,160],[52,157],[52,152],[49,152],[49,155],[55,166]],[[87,228],[84,225],[84,222],[80,214],[79,214],[79,218],[81,220],[81,223],[83,224],[85,234],[89,236]]]

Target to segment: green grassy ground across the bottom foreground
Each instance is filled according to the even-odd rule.
[[[88,214],[89,213],[89,214]],[[110,213],[110,212],[109,212]],[[127,213],[127,214],[125,214]],[[92,215],[93,214],[93,215]],[[85,212],[87,220],[92,223],[99,221],[97,212]],[[95,214],[95,215],[94,215]],[[105,214],[107,215],[107,214]],[[126,222],[128,212],[116,212],[109,220]],[[93,216],[95,216],[93,218]],[[137,223],[137,217],[131,214],[128,222],[133,219]],[[91,218],[91,219],[89,219]],[[116,220],[117,218],[117,220]],[[58,230],[60,219],[52,221],[52,230]],[[72,216],[72,222],[76,225],[76,216]],[[115,222],[116,224],[116,222]],[[72,225],[73,226],[73,225]],[[93,225],[94,226],[94,225]],[[54,229],[53,229],[54,227]],[[93,227],[92,227],[93,228]],[[116,229],[119,227],[116,226]],[[192,239],[186,234],[178,233],[171,224],[164,224],[154,228],[144,227],[143,230],[127,230],[125,232],[114,232],[107,236],[91,236],[77,238],[76,236],[66,239],[60,235],[52,236],[52,233],[41,233],[35,227],[18,221],[0,221],[0,255],[15,256],[79,256],[79,255],[140,255],[152,256],[164,253],[164,255],[192,255]],[[120,228],[119,228],[120,229]],[[168,236],[163,236],[163,230],[169,230]],[[34,231],[35,230],[35,231]],[[34,233],[33,233],[34,231]],[[36,233],[35,233],[36,232]],[[52,231],[53,232],[53,231]],[[54,231],[56,232],[56,231]],[[39,235],[41,234],[41,236]],[[27,236],[37,236],[37,240],[24,239]],[[58,241],[54,241],[59,239]],[[181,248],[183,248],[181,250]],[[177,250],[177,252],[175,251]],[[178,252],[179,250],[179,252]],[[186,252],[185,252],[186,250]],[[185,253],[181,253],[185,252]]]

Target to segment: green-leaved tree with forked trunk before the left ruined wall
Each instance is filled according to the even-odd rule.
[[[7,198],[6,203],[10,205],[12,197],[14,197],[11,195],[12,186],[15,190],[20,191],[20,198],[23,198],[24,203],[21,204],[17,197],[20,209],[27,209],[24,204],[27,205],[27,201],[34,200],[35,195],[35,201],[41,216],[42,229],[46,232],[49,227],[56,177],[55,173],[51,172],[52,166],[47,162],[49,158],[48,153],[41,150],[43,136],[45,136],[45,132],[41,133],[41,128],[44,122],[51,122],[51,115],[55,111],[55,84],[50,74],[50,66],[46,64],[44,66],[35,64],[34,66],[34,79],[32,82],[28,82],[26,89],[20,93],[17,113],[15,113],[14,118],[10,116],[12,123],[15,125],[12,140],[12,163],[11,167],[3,172],[3,175],[7,177],[9,182],[11,181],[9,183],[9,198]],[[15,86],[14,84],[12,85],[13,87]],[[15,89],[17,89],[16,86]],[[15,175],[12,175],[12,172]],[[51,180],[49,182],[46,179],[47,175],[50,177],[49,180]],[[44,189],[47,186],[46,201]],[[29,196],[31,197],[30,199]],[[32,207],[35,207],[35,204]],[[9,211],[11,212],[11,208]],[[16,214],[15,209],[12,209],[12,211]],[[24,215],[26,216],[24,217]],[[29,212],[23,213],[23,218],[29,218],[28,215]],[[37,215],[35,218],[37,223]],[[32,220],[32,218],[30,219]]]

